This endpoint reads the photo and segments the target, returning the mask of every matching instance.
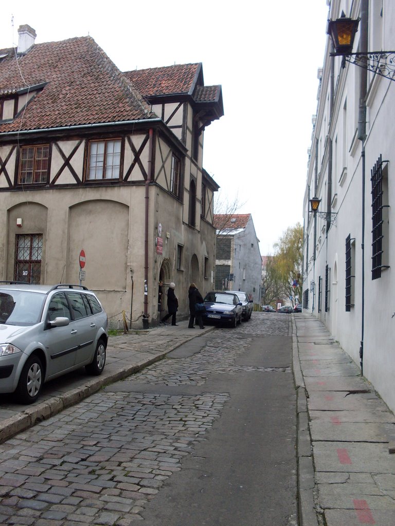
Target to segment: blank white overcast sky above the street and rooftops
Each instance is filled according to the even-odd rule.
[[[252,214],[266,255],[302,222],[327,18],[326,0],[19,0],[2,7],[0,48],[28,24],[37,44],[90,35],[122,71],[202,62],[225,113],[206,128],[203,165]]]

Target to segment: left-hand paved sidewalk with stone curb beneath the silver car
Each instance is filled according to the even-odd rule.
[[[101,376],[87,376],[84,369],[45,383],[40,398],[31,406],[13,402],[12,395],[0,395],[0,443],[92,395],[103,386],[141,371],[186,341],[214,330],[188,328],[189,320],[177,326],[160,325],[108,339],[106,366]]]

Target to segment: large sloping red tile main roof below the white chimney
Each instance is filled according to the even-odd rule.
[[[18,56],[18,64],[13,49],[0,50],[0,56],[5,53],[0,58],[0,95],[47,84],[24,113],[0,124],[0,132],[156,117],[91,37],[35,44]]]

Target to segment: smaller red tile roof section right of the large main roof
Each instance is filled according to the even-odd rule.
[[[202,64],[176,64],[174,66],[136,69],[124,73],[144,97],[153,95],[192,95]],[[203,82],[203,78],[201,79]]]

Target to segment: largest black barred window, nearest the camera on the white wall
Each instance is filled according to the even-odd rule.
[[[388,268],[388,265],[382,265],[384,208],[382,164],[385,162],[380,154],[370,171],[372,183],[372,280],[381,278],[381,269]]]

